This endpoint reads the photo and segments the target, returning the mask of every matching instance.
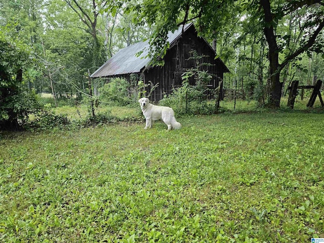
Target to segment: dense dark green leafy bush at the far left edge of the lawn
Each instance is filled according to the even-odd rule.
[[[39,108],[36,94],[22,82],[30,50],[12,36],[8,29],[0,30],[0,130],[19,129]]]

